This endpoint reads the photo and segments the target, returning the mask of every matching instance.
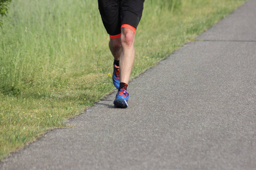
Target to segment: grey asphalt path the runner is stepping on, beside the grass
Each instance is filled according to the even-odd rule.
[[[256,169],[256,1],[0,169]]]

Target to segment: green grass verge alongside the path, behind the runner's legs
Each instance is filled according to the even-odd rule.
[[[244,0],[146,0],[131,78]],[[113,57],[97,1],[10,5],[0,29],[0,160],[112,92]]]

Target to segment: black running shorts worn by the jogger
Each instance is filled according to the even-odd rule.
[[[110,37],[121,33],[121,25],[137,29],[142,17],[144,0],[98,0],[102,22]]]

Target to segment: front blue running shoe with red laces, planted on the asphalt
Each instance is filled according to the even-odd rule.
[[[117,92],[117,95],[115,96],[114,105],[118,108],[127,108],[128,107],[128,99],[129,99],[129,93],[121,89],[121,91]]]

